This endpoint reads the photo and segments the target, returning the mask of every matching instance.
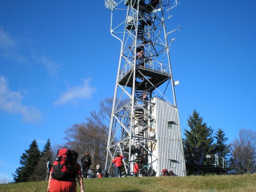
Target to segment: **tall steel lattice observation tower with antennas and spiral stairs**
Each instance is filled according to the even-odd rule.
[[[172,1],[172,0],[171,0]],[[166,22],[176,0],[105,0],[121,50],[105,169],[122,154],[126,176],[186,176]],[[139,171],[134,170],[135,164]],[[124,175],[124,174],[123,174]]]

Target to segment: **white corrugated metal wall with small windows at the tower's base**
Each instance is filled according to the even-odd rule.
[[[163,169],[172,170],[177,176],[186,176],[178,108],[159,98],[153,98],[153,102],[158,154],[157,176],[160,176]],[[173,128],[168,128],[168,121],[174,122]],[[175,167],[171,167],[171,160]]]

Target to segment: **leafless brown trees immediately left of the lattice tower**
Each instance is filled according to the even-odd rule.
[[[125,105],[125,102],[120,101],[119,105]],[[99,111],[91,111],[86,117],[87,122],[74,124],[65,131],[65,145],[76,150],[80,154],[79,159],[85,152],[90,152],[93,168],[97,164],[102,167],[105,164],[112,104],[113,97],[104,98],[100,101]]]

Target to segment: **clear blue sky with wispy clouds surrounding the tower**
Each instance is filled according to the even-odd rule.
[[[181,128],[196,109],[232,142],[256,130],[256,2],[185,1],[172,12],[170,57]],[[35,138],[50,138],[114,94],[120,42],[104,1],[0,0],[0,183]]]

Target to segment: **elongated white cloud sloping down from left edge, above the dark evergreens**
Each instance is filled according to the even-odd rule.
[[[10,90],[6,78],[0,74],[0,109],[12,114],[21,114],[26,122],[38,122],[41,119],[40,111],[23,105],[21,101],[20,92]]]

